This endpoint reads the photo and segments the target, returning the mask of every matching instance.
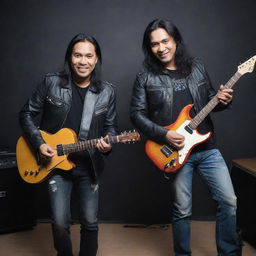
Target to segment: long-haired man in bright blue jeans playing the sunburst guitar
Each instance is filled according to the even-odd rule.
[[[177,27],[169,20],[156,19],[143,38],[144,70],[137,75],[132,100],[131,120],[149,139],[182,149],[183,135],[164,126],[174,123],[181,109],[193,104],[195,116],[216,94],[204,65],[189,56]],[[232,100],[232,89],[220,86],[218,105],[223,110]],[[198,127],[200,133],[213,132],[208,116]],[[176,256],[191,255],[190,217],[192,214],[192,177],[197,172],[217,202],[216,244],[219,256],[238,256],[236,233],[236,196],[228,168],[216,149],[215,138],[195,147],[185,165],[172,177],[173,240]]]

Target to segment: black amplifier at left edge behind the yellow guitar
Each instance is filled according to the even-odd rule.
[[[35,225],[34,187],[19,175],[16,155],[0,152],[0,233]]]

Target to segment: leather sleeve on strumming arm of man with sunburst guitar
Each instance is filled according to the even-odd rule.
[[[131,98],[130,118],[134,126],[152,140],[165,142],[168,130],[148,118],[145,82],[138,75]]]

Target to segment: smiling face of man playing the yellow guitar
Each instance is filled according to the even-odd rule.
[[[86,41],[74,45],[71,55],[71,68],[77,78],[90,78],[97,61],[98,57],[92,43]]]

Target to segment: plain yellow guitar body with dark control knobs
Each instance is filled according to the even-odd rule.
[[[70,170],[75,167],[74,163],[68,160],[68,155],[58,156],[56,152],[56,145],[58,144],[77,142],[75,132],[68,128],[63,128],[55,134],[49,134],[44,131],[40,132],[44,141],[55,149],[55,155],[49,162],[39,165],[34,151],[23,136],[19,138],[16,145],[18,170],[21,178],[28,183],[44,181],[53,174],[56,168]]]

